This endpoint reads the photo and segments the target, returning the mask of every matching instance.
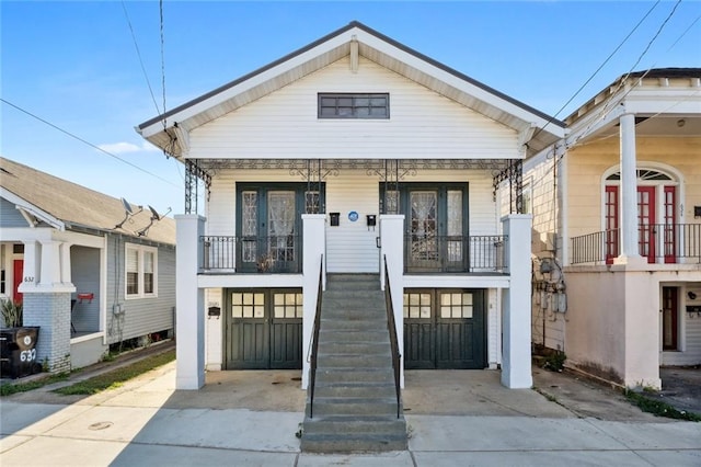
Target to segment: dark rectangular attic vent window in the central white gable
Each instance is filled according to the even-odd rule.
[[[320,93],[319,118],[389,118],[390,94]]]

